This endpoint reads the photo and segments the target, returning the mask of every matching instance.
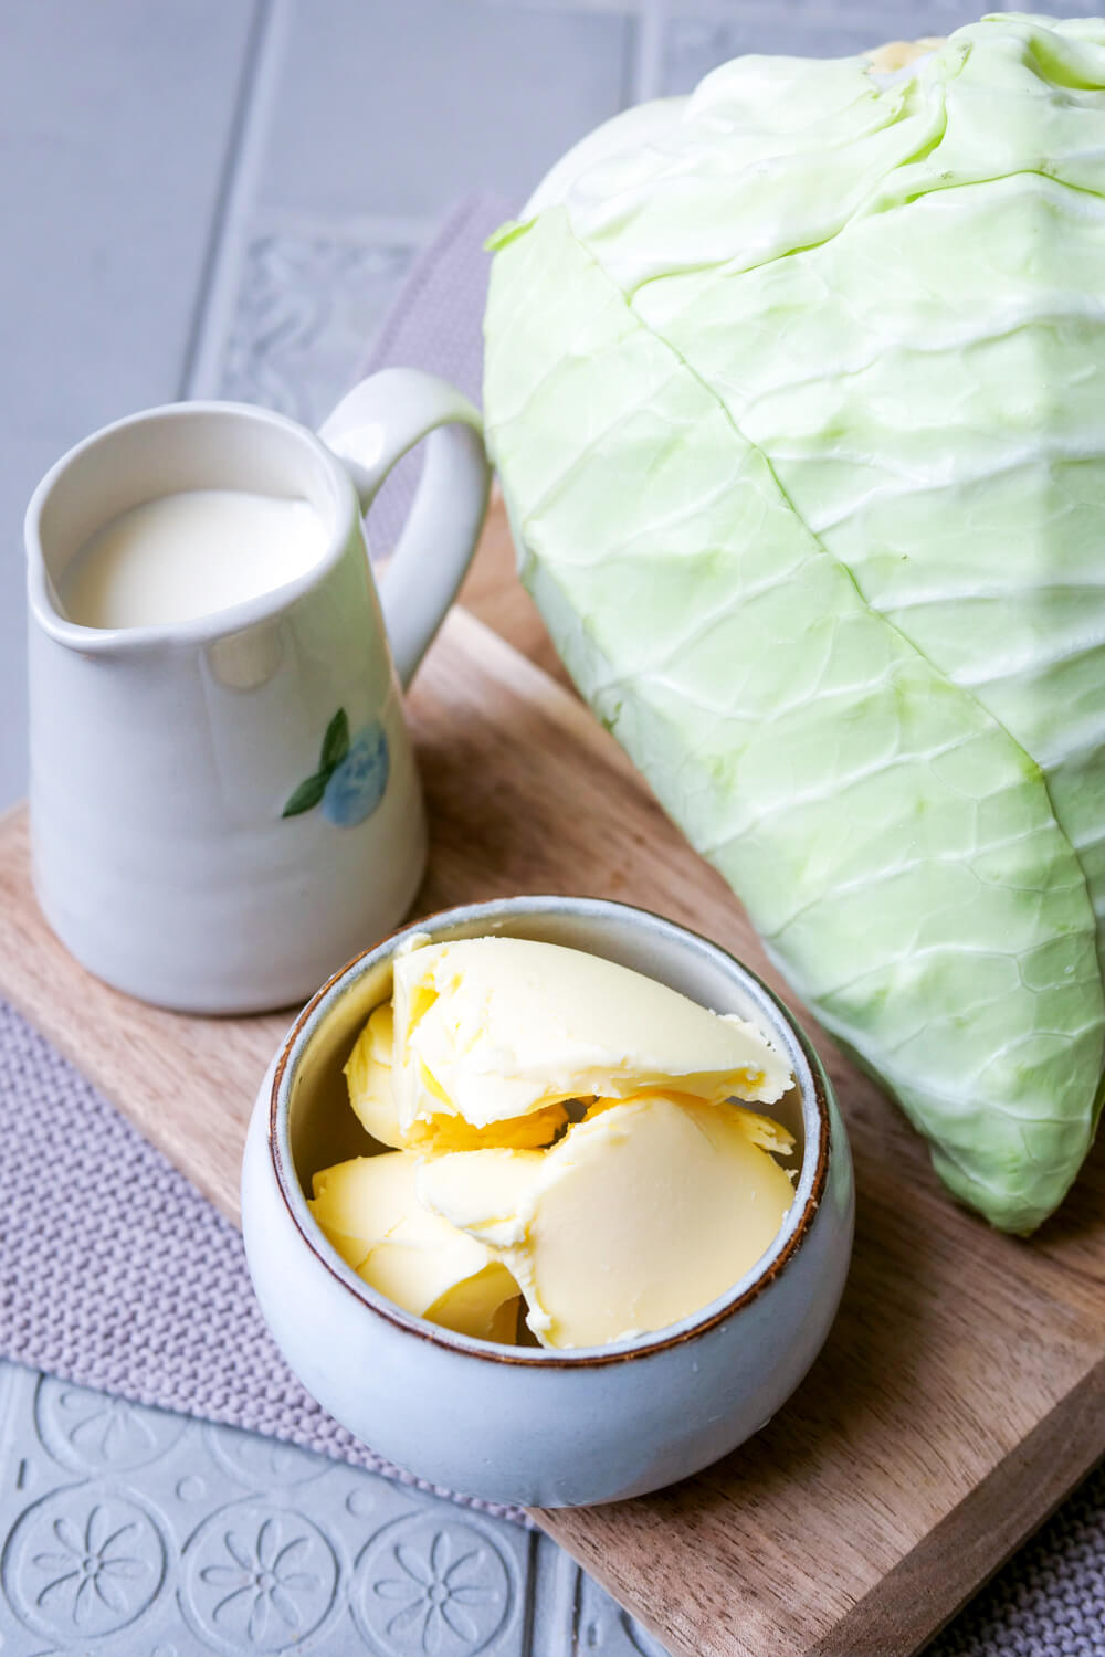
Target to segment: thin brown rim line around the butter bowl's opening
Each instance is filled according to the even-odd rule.
[[[519,893],[519,896],[522,898],[522,901],[527,901],[527,900],[528,901],[540,901],[543,896],[548,896],[550,901],[555,901],[555,903],[563,903],[565,901],[565,898],[560,896],[560,895],[547,895],[547,893],[532,893],[532,895],[530,893]],[[502,900],[502,898],[489,898],[489,900],[485,900],[487,906],[492,906],[492,905],[502,903],[502,901],[509,903],[512,900],[510,898],[505,898],[505,900]],[[573,901],[573,900],[568,898],[567,901]],[[684,931],[691,938],[696,938],[699,943],[704,943],[709,949],[717,949],[721,954],[727,956],[731,961],[736,961],[736,964],[741,968],[741,971],[747,973],[749,978],[755,984],[759,984],[759,988],[769,996],[769,999],[779,1009],[782,1019],[790,1027],[790,1031],[792,1031],[792,1034],[794,1034],[799,1047],[802,1049],[802,1052],[805,1056],[805,1060],[807,1060],[808,1069],[810,1069],[810,1075],[813,1079],[813,1102],[817,1105],[817,1118],[818,1118],[818,1123],[820,1123],[818,1147],[817,1147],[817,1167],[813,1170],[813,1183],[810,1186],[810,1193],[808,1193],[808,1196],[805,1200],[805,1205],[802,1208],[802,1213],[799,1216],[799,1223],[795,1225],[794,1231],[787,1238],[784,1248],[770,1261],[770,1264],[767,1266],[767,1269],[762,1271],[747,1286],[747,1289],[744,1291],[744,1294],[741,1294],[736,1301],[726,1301],[722,1306],[719,1306],[716,1311],[712,1311],[707,1317],[704,1317],[701,1322],[692,1324],[689,1329],[681,1329],[678,1334],[666,1336],[664,1339],[646,1341],[646,1344],[641,1344],[641,1345],[620,1347],[618,1350],[613,1350],[613,1352],[590,1350],[590,1352],[581,1352],[578,1357],[572,1357],[567,1352],[565,1354],[553,1354],[553,1350],[548,1349],[548,1347],[542,1349],[540,1352],[533,1352],[533,1350],[527,1350],[525,1347],[517,1347],[517,1349],[515,1347],[510,1347],[510,1349],[504,1347],[504,1349],[499,1349],[499,1347],[492,1345],[492,1342],[480,1342],[479,1345],[474,1345],[467,1337],[456,1336],[452,1329],[441,1329],[437,1324],[431,1324],[424,1317],[417,1317],[414,1312],[404,1312],[403,1307],[399,1307],[399,1306],[396,1306],[393,1309],[389,1304],[379,1304],[378,1306],[374,1301],[369,1301],[351,1283],[348,1283],[346,1278],[340,1271],[335,1269],[333,1261],[326,1259],[326,1256],[318,1248],[316,1239],[313,1236],[310,1236],[303,1229],[303,1226],[300,1223],[300,1216],[297,1215],[295,1206],[290,1201],[288,1185],[285,1181],[283,1158],[280,1155],[278,1143],[277,1143],[277,1099],[278,1099],[278,1094],[280,1094],[280,1084],[283,1080],[285,1069],[287,1069],[288,1060],[292,1057],[292,1049],[293,1049],[295,1042],[298,1041],[300,1034],[303,1032],[303,1027],[310,1021],[310,1017],[315,1012],[315,1009],[318,1007],[318,1004],[325,999],[325,996],[328,996],[330,991],[338,983],[341,983],[341,979],[346,978],[353,971],[355,966],[358,966],[361,961],[364,961],[369,954],[376,954],[379,949],[386,948],[386,944],[389,944],[393,941],[393,938],[399,938],[404,933],[411,933],[411,931],[421,931],[421,930],[431,931],[434,921],[441,921],[446,916],[456,915],[457,910],[480,908],[484,905],[480,905],[480,903],[456,903],[456,905],[452,905],[447,910],[434,910],[431,915],[421,916],[417,921],[406,921],[403,926],[396,926],[394,931],[388,933],[384,938],[378,940],[374,944],[369,944],[368,949],[361,949],[350,961],[346,961],[345,966],[341,966],[336,973],[333,973],[326,979],[326,983],[321,984],[315,991],[315,994],[306,1002],[306,1006],[303,1007],[303,1011],[295,1019],[295,1024],[292,1026],[292,1029],[285,1036],[283,1044],[280,1047],[280,1056],[278,1056],[275,1069],[273,1069],[272,1089],[270,1089],[270,1095],[268,1095],[268,1133],[267,1133],[267,1140],[268,1140],[268,1160],[270,1160],[272,1170],[273,1170],[273,1173],[277,1176],[277,1190],[280,1191],[280,1200],[283,1201],[283,1206],[288,1211],[288,1218],[292,1220],[292,1225],[300,1233],[300,1236],[303,1238],[303,1243],[311,1251],[311,1254],[315,1256],[315,1259],[321,1266],[325,1266],[325,1269],[330,1273],[330,1276],[335,1279],[335,1283],[341,1284],[341,1287],[346,1291],[346,1294],[350,1294],[359,1306],[366,1307],[369,1312],[374,1312],[378,1317],[383,1317],[386,1322],[394,1324],[396,1329],[403,1329],[408,1334],[417,1336],[421,1341],[427,1341],[431,1345],[442,1345],[449,1352],[457,1352],[457,1354],[461,1354],[464,1357],[477,1359],[480,1362],[515,1364],[515,1365],[522,1365],[525,1369],[586,1369],[586,1367],[593,1369],[593,1367],[605,1365],[605,1364],[625,1364],[625,1362],[630,1362],[631,1359],[651,1357],[654,1352],[666,1352],[671,1347],[683,1345],[686,1341],[696,1341],[699,1336],[704,1336],[709,1329],[714,1329],[717,1324],[726,1322],[727,1317],[732,1317],[736,1312],[744,1311],[744,1307],[749,1306],[750,1301],[754,1301],[760,1294],[762,1289],[765,1289],[770,1283],[774,1283],[782,1274],[782,1271],[787,1268],[787,1264],[794,1259],[794,1256],[799,1253],[799,1249],[805,1243],[805,1239],[807,1239],[807,1236],[810,1233],[810,1226],[813,1225],[813,1218],[817,1215],[817,1210],[820,1208],[822,1196],[825,1195],[825,1183],[827,1183],[827,1178],[828,1178],[828,1157],[830,1157],[830,1150],[832,1150],[832,1122],[830,1122],[830,1115],[828,1115],[828,1097],[827,1097],[827,1092],[825,1092],[825,1070],[823,1070],[822,1062],[817,1057],[813,1047],[810,1046],[810,1041],[808,1041],[805,1031],[797,1022],[797,1019],[790,1014],[790,1011],[784,1006],[784,1002],[779,999],[779,996],[774,993],[774,989],[770,989],[764,983],[764,979],[759,978],[749,966],[746,966],[742,961],[739,961],[736,954],[731,954],[729,949],[726,949],[719,943],[714,943],[714,940],[707,938],[704,933],[694,931],[692,926],[684,926],[681,921],[673,921],[669,916],[658,915],[654,910],[644,910],[638,903],[621,903],[618,898],[581,898],[578,901],[585,901],[585,903],[605,903],[605,905],[610,905],[611,908],[626,910],[628,913],[646,915],[649,920],[659,921],[664,926],[674,926],[678,931]],[[298,1180],[295,1180],[295,1175],[293,1175],[293,1183],[298,1186]],[[302,1188],[300,1188],[300,1195],[303,1195]],[[321,1238],[321,1233],[320,1233],[320,1238]],[[368,1287],[368,1284],[366,1284],[366,1287]],[[384,1301],[384,1296],[381,1296],[381,1302],[383,1301]],[[663,1331],[656,1331],[656,1334],[663,1336]]]

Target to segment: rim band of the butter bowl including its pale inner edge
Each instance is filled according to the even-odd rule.
[[[754,999],[765,1002],[775,1019],[785,1026],[797,1054],[805,1060],[805,1070],[808,1072],[808,1082],[812,1084],[808,1090],[803,1087],[802,1094],[802,1110],[807,1118],[807,1132],[805,1153],[802,1157],[802,1168],[799,1171],[795,1188],[795,1203],[792,1203],[787,1216],[784,1218],[772,1246],[760,1256],[750,1271],[739,1278],[707,1306],[688,1314],[676,1324],[668,1324],[664,1329],[651,1331],[648,1334],[631,1337],[630,1341],[611,1342],[610,1345],[578,1347],[568,1350],[557,1350],[552,1347],[504,1347],[490,1341],[480,1341],[475,1336],[462,1336],[452,1329],[442,1329],[437,1324],[431,1324],[427,1319],[419,1317],[414,1312],[404,1311],[404,1307],[373,1289],[368,1283],[358,1278],[350,1266],[346,1266],[336,1249],[326,1243],[323,1231],[313,1220],[306,1206],[303,1186],[295,1175],[288,1140],[288,1102],[298,1062],[303,1056],[306,1042],[325,1021],[326,1012],[341,998],[348,984],[363,976],[363,973],[366,973],[371,966],[376,966],[383,958],[396,954],[406,940],[422,933],[429,933],[432,938],[436,931],[444,928],[469,925],[484,918],[489,921],[504,918],[509,920],[512,915],[540,915],[550,910],[558,913],[567,910],[580,918],[595,920],[600,920],[603,913],[616,911],[620,916],[633,916],[635,921],[643,921],[648,926],[659,926],[663,931],[681,935],[683,940],[691,940],[694,944],[712,953],[714,956],[721,956],[726,971],[742,981],[742,988],[750,989]],[[654,910],[646,910],[635,903],[621,903],[616,898],[527,893],[514,898],[490,898],[485,901],[461,903],[446,910],[436,910],[431,915],[424,915],[416,921],[408,921],[406,925],[396,928],[368,949],[361,949],[359,954],[355,954],[353,959],[346,961],[345,966],[333,973],[300,1011],[280,1044],[268,1089],[268,1120],[265,1140],[270,1168],[277,1181],[277,1191],[280,1193],[280,1200],[283,1201],[288,1218],[298,1231],[303,1244],[326,1269],[326,1273],[366,1311],[374,1312],[378,1317],[383,1317],[386,1322],[406,1331],[408,1334],[417,1336],[421,1341],[427,1341],[431,1345],[444,1347],[449,1352],[456,1352],[464,1357],[538,1370],[596,1369],[610,1364],[625,1364],[633,1359],[653,1357],[659,1352],[669,1350],[671,1347],[696,1341],[717,1324],[726,1322],[729,1317],[744,1311],[744,1307],[755,1301],[764,1289],[775,1283],[805,1243],[825,1195],[828,1162],[833,1148],[830,1097],[832,1084],[813,1046],[810,1044],[810,1039],[795,1016],[779,999],[775,991],[770,989],[770,986],[765,984],[762,978],[752,971],[752,968],[746,966],[744,961],[726,949],[724,944],[716,943],[712,938],[706,938],[691,926],[683,926],[679,921],[669,920],[666,915],[658,915]],[[817,1147],[813,1157],[810,1155],[810,1112],[807,1104],[812,1105],[817,1118]],[[797,1196],[803,1186],[807,1186],[807,1191],[799,1210]]]

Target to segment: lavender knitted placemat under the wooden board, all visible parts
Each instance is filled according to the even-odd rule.
[[[504,217],[487,197],[451,215],[408,277],[369,368],[409,363],[479,394],[480,245]],[[404,462],[381,492],[369,519],[376,548],[394,545],[416,476],[417,462]],[[0,1357],[417,1483],[338,1427],[288,1372],[234,1226],[3,1002],[0,1143]],[[1105,1471],[929,1650],[999,1654],[1105,1657]]]

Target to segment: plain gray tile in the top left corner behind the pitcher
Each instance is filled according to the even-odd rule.
[[[0,23],[0,805],[25,787],[22,515],[179,394],[255,0],[35,0]]]

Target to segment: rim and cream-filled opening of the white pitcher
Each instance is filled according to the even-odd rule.
[[[316,588],[358,524],[348,474],[295,421],[235,403],[167,404],[104,428],[43,477],[25,524],[30,611],[83,656],[240,638]],[[114,585],[98,583],[106,553]]]

